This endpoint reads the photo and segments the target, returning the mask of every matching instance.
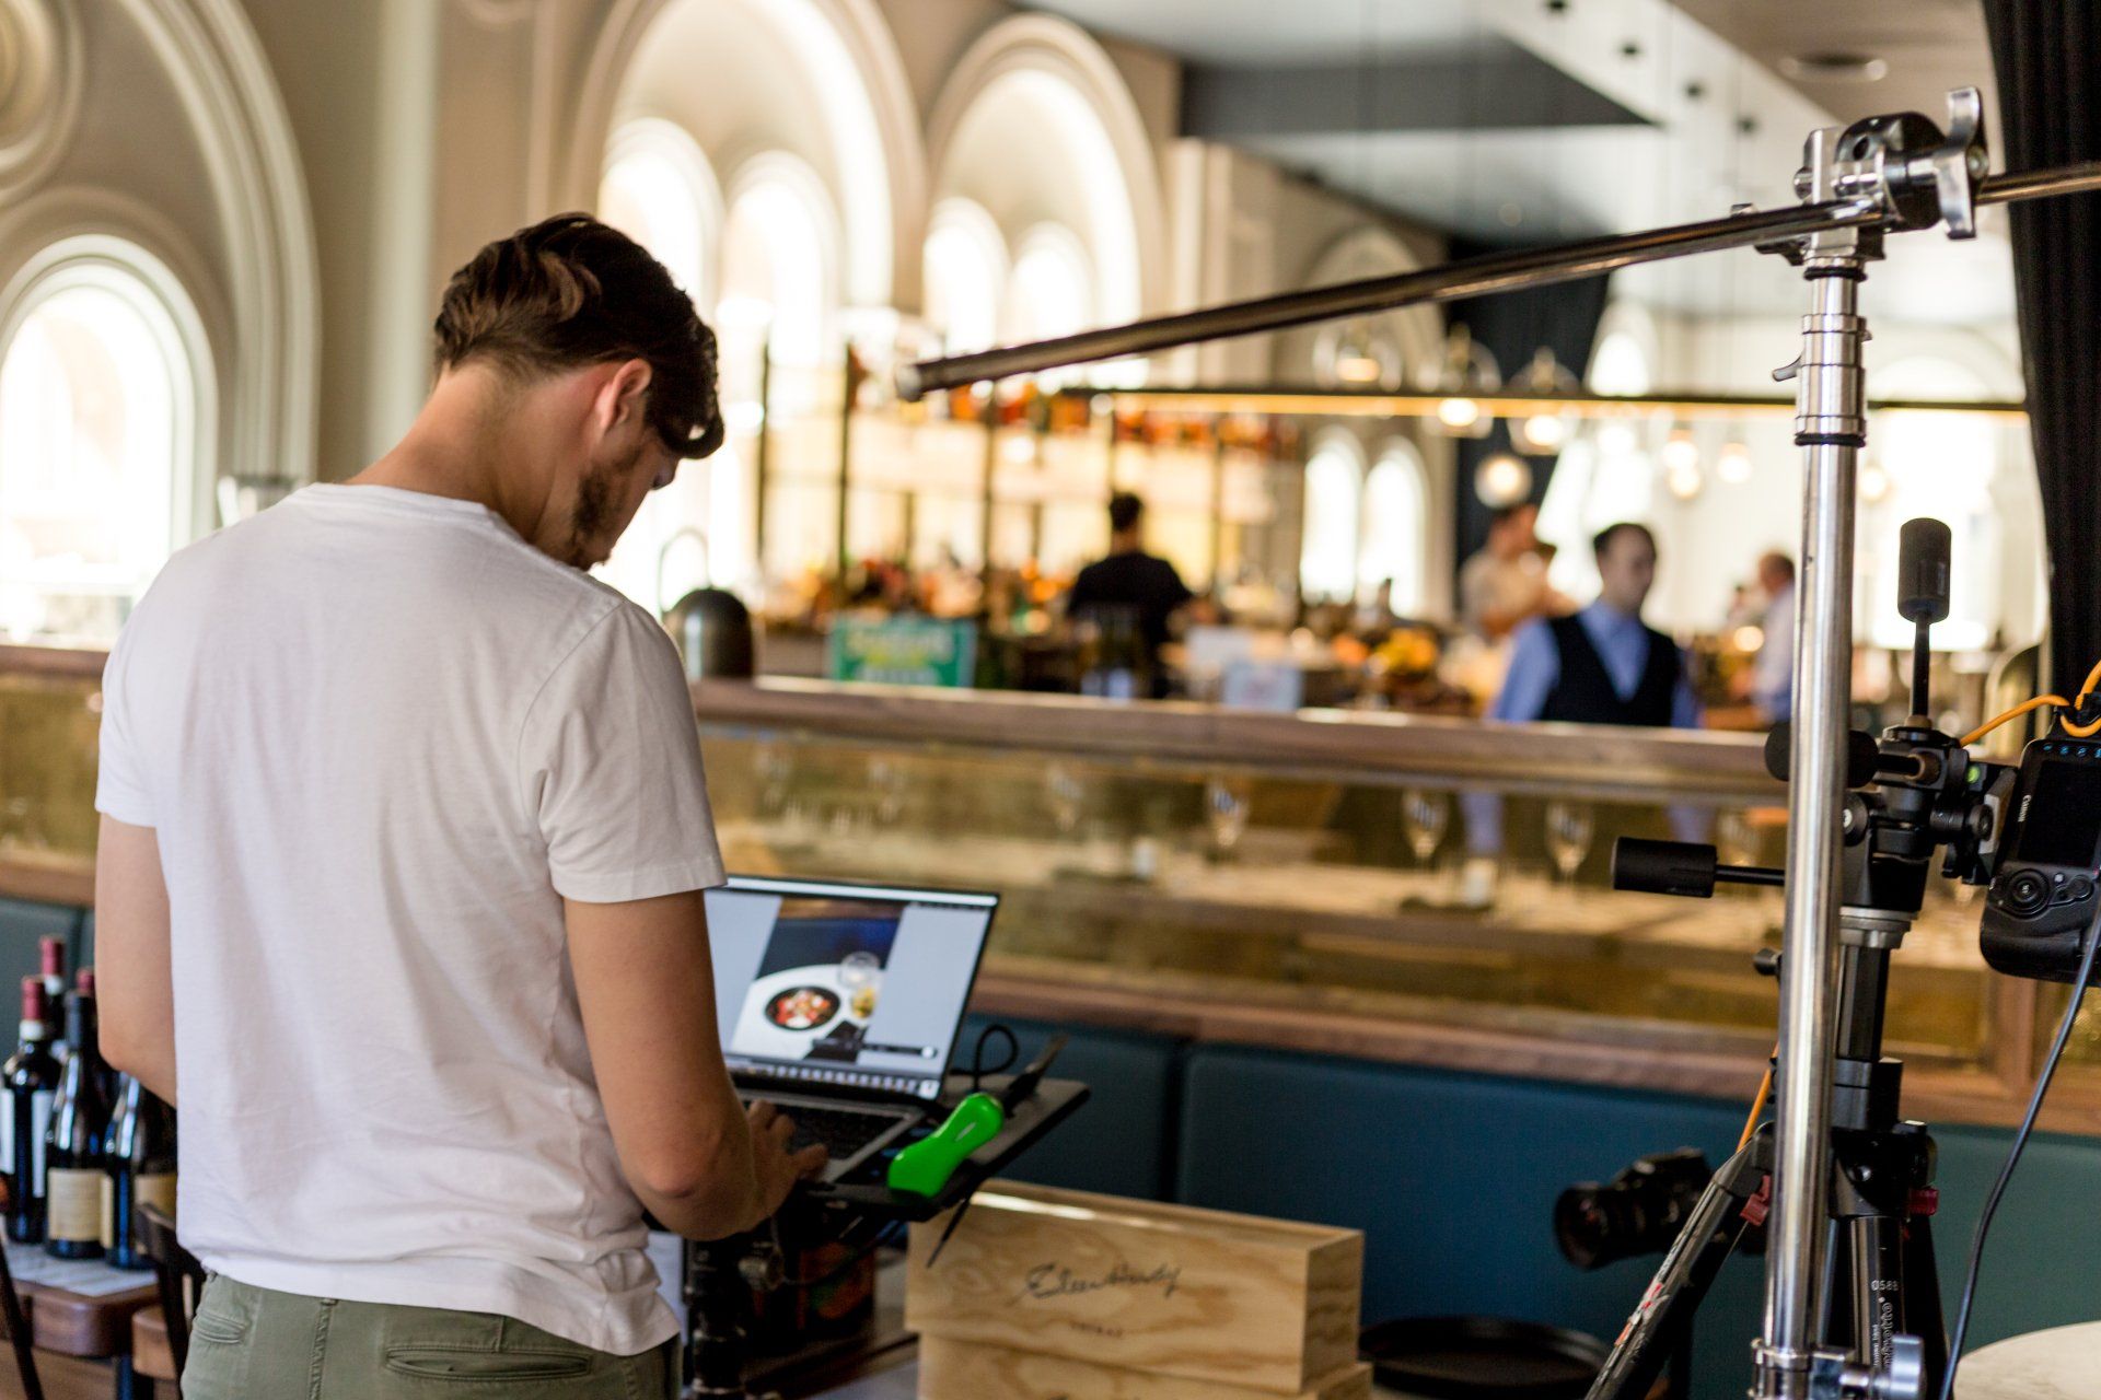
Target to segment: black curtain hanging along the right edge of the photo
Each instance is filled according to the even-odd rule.
[[[2101,157],[2093,0],[1985,0],[2006,170]],[[2011,208],[2027,424],[2051,558],[2051,684],[2101,657],[2101,195]]]

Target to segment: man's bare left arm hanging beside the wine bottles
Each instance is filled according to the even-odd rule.
[[[174,1102],[168,882],[153,827],[103,816],[95,848],[95,993],[103,1058]]]

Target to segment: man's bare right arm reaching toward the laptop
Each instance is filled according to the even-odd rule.
[[[758,1226],[824,1148],[788,1154],[794,1131],[750,1115],[723,1064],[700,890],[613,905],[565,900],[584,1039],[620,1152],[649,1213],[687,1238]]]

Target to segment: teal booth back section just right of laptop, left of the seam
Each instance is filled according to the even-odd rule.
[[[979,1031],[1000,1020],[1021,1041],[1017,1068],[1036,1058],[1057,1026],[1004,1016],[971,1016],[956,1043],[956,1066],[969,1068]],[[1069,1026],[1072,1037],[1050,1073],[1078,1079],[1093,1094],[1057,1131],[1021,1157],[1006,1175],[1042,1186],[1099,1190],[1111,1196],[1166,1201],[1174,1186],[1174,1121],[1179,1119],[1185,1043],[1164,1035]],[[985,1047],[998,1064],[1000,1045]]]

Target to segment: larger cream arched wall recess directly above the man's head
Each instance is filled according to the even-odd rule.
[[[616,0],[563,128],[567,204],[592,204],[637,118],[681,126],[719,172],[765,151],[807,162],[847,227],[845,302],[916,304],[927,155],[874,0]]]

